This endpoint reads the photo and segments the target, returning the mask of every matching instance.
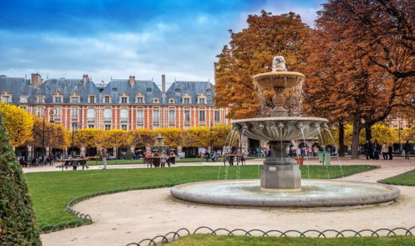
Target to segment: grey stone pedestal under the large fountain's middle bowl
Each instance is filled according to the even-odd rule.
[[[281,191],[300,190],[301,171],[300,168],[287,155],[286,148],[290,141],[269,141],[272,155],[264,160],[261,170],[261,190]]]

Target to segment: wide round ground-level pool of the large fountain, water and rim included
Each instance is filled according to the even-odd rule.
[[[244,207],[341,207],[390,202],[395,186],[335,180],[303,180],[300,191],[261,191],[258,180],[205,181],[171,188],[174,198],[208,205]]]

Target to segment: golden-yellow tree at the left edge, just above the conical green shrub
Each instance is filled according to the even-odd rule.
[[[0,113],[4,118],[4,127],[13,146],[21,146],[32,141],[34,120],[25,110],[8,103],[0,103]]]

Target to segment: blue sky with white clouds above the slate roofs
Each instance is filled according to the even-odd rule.
[[[227,30],[249,14],[293,11],[313,25],[322,2],[0,0],[0,75],[212,82]]]

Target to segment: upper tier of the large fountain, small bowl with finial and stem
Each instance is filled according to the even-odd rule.
[[[298,86],[305,79],[305,76],[300,72],[288,72],[286,68],[286,60],[282,56],[275,56],[272,60],[272,72],[264,72],[253,77],[254,82],[257,83],[260,92],[265,89],[272,89],[274,91],[274,98],[272,101],[275,105],[271,112],[271,116],[288,116],[287,110],[284,108],[286,98],[283,91],[286,88]]]

